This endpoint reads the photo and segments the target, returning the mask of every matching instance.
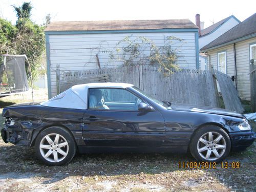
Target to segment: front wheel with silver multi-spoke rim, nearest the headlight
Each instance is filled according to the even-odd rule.
[[[207,125],[195,132],[189,148],[198,161],[219,163],[228,156],[231,142],[221,127]]]

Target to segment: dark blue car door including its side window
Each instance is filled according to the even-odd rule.
[[[126,89],[89,89],[88,110],[83,115],[87,146],[156,146],[165,138],[160,112],[138,111],[143,100]]]

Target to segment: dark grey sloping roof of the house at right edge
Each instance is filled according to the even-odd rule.
[[[219,36],[215,40],[211,41],[209,44],[204,46],[200,51],[205,51],[208,49],[214,49],[222,44],[231,44],[234,40],[239,40],[240,38],[256,35],[256,13],[245,19],[242,23],[234,26],[232,29],[228,30],[223,35]],[[242,39],[244,40],[244,39]]]

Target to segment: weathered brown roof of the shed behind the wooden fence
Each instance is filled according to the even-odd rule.
[[[198,28],[189,19],[52,22],[45,31],[103,31]]]

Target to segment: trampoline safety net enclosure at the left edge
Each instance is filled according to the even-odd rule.
[[[0,55],[0,96],[29,90],[24,55]]]

